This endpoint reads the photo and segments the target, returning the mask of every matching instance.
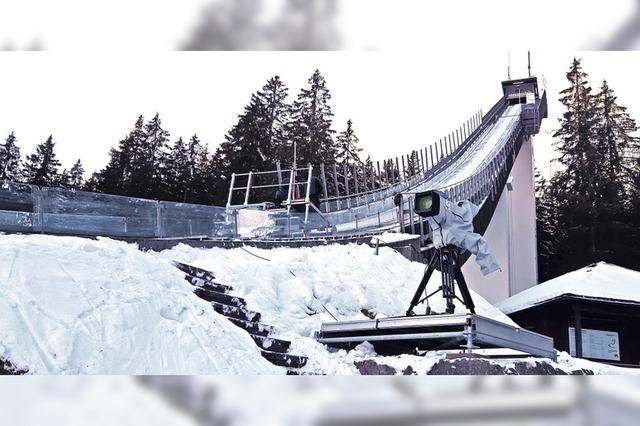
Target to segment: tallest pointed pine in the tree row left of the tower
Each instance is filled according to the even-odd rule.
[[[336,157],[330,100],[326,81],[316,70],[309,78],[309,88],[302,89],[293,103],[291,139],[299,165],[330,164]]]

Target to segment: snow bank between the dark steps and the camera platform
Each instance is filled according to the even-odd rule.
[[[353,362],[376,359],[389,364],[392,358],[378,358],[361,351],[328,352],[313,339],[323,322],[368,319],[363,310],[377,318],[404,315],[425,265],[411,262],[387,247],[368,245],[328,245],[309,248],[200,249],[184,244],[157,253],[214,271],[216,279],[234,288],[234,295],[247,300],[248,308],[262,314],[262,321],[278,330],[278,337],[292,341],[291,351],[307,355],[307,368],[326,374],[352,374]],[[435,272],[428,289],[440,285]],[[476,311],[497,321],[516,325],[509,317],[472,291]],[[445,301],[435,296],[431,307],[445,311]],[[419,306],[424,309],[424,306]],[[461,304],[456,312],[464,313]],[[404,365],[419,364],[427,371],[437,359],[402,356]]]

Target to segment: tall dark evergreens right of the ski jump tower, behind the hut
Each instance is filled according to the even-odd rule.
[[[640,270],[638,126],[606,80],[592,90],[579,59],[567,79],[562,167],[549,182],[536,174],[539,280],[598,261]]]

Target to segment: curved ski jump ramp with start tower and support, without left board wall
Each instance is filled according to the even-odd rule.
[[[441,140],[440,144],[414,151],[419,154],[413,157],[418,163],[418,170],[413,173],[400,168],[397,157],[395,162],[391,160],[394,173],[389,173],[389,162],[384,162],[383,169],[378,165],[377,172],[372,170],[369,182],[364,167],[359,171],[354,166],[352,173],[345,168],[340,173],[340,168],[336,171],[335,166],[320,165],[324,187],[319,212],[312,209],[302,212],[300,208],[296,211],[290,191],[289,199],[283,203],[287,208],[278,218],[274,210],[256,210],[255,205],[248,203],[250,183],[232,185],[230,201],[234,191],[244,191],[245,195],[244,204],[233,206],[230,202],[228,206],[236,208],[239,234],[248,239],[292,241],[402,231],[427,240],[428,226],[412,210],[413,194],[438,189],[450,200],[470,200],[480,207],[474,219],[475,231],[484,235],[502,267],[500,273],[484,277],[472,262],[467,262],[463,272],[474,290],[495,303],[535,285],[532,137],[547,116],[546,93],[541,93],[535,77],[504,81],[502,88],[503,96],[489,112],[465,123],[452,133],[453,137],[445,138],[444,144]],[[408,164],[411,158],[406,159]],[[281,187],[299,185],[304,192],[305,184],[317,170],[309,166],[288,173],[279,180]],[[349,176],[364,179],[351,182]],[[297,177],[302,182],[297,182]],[[251,176],[248,178],[252,181]],[[331,182],[333,189],[327,184]],[[399,204],[398,194],[402,195]],[[308,196],[307,193],[307,201]],[[304,194],[299,197],[297,207],[304,206]]]

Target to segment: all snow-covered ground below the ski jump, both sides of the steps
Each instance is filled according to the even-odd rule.
[[[357,374],[373,360],[428,372],[445,354],[378,356],[367,343],[332,351],[313,339],[323,322],[401,315],[425,265],[388,247],[197,249],[160,253],[106,238],[0,235],[0,358],[35,374],[279,374],[253,340],[197,298],[171,264],[214,271],[248,308],[309,358],[307,372]],[[434,274],[429,286],[439,285]],[[474,294],[477,311],[514,323]],[[444,311],[442,298],[432,308]],[[457,306],[462,312],[462,307]],[[534,359],[530,359],[534,361]],[[494,361],[508,363],[510,361]],[[627,374],[561,354],[558,368]]]

